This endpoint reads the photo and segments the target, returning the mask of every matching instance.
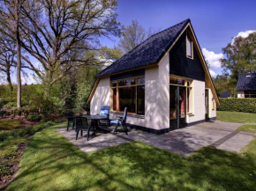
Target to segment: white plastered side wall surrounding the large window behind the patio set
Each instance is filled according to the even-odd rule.
[[[109,80],[106,77],[98,84],[91,100],[91,114],[99,114],[101,106],[109,105]],[[110,114],[110,118],[116,115]],[[169,128],[169,55],[158,66],[145,69],[145,117],[128,115],[127,123],[149,129]]]

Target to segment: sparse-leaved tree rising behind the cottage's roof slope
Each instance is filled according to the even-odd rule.
[[[132,25],[124,28],[123,36],[118,42],[118,48],[124,51],[124,54],[137,47],[141,42],[159,30],[149,28],[146,30],[139,25],[137,20],[132,20]]]

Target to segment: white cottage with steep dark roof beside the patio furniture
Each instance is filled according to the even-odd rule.
[[[219,99],[190,19],[155,33],[97,76],[91,114],[128,107],[127,123],[162,134],[215,120]]]

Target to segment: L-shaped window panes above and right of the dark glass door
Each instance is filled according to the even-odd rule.
[[[192,80],[179,77],[169,77],[169,84],[186,87],[186,112],[192,114]]]

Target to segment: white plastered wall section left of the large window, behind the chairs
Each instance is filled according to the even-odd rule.
[[[109,106],[109,77],[102,78],[97,85],[94,96],[90,102],[91,114],[100,114],[102,106]]]

